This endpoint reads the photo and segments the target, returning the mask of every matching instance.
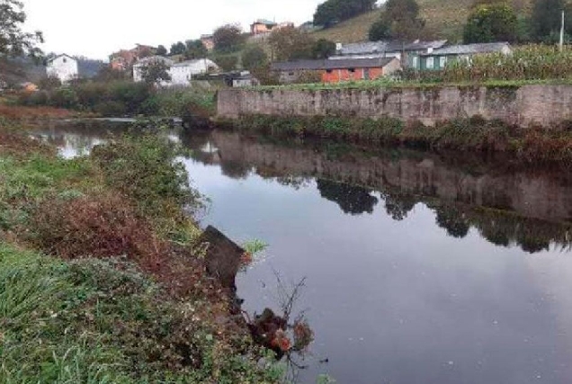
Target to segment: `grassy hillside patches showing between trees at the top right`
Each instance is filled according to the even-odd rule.
[[[417,0],[421,17],[426,21],[425,36],[420,38],[447,39],[453,42],[462,39],[462,29],[469,15],[473,0]],[[513,0],[515,9],[528,12],[532,0]],[[371,24],[380,16],[380,10],[365,13],[332,28],[314,32],[317,39],[325,38],[336,42],[368,40]]]

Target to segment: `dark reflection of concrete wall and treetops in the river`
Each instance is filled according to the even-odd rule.
[[[381,202],[389,217],[404,220],[423,203],[451,237],[476,228],[496,246],[529,253],[570,247],[572,180],[562,174],[486,167],[475,172],[416,152],[288,146],[225,132],[183,142],[195,149],[194,159],[219,165],[235,179],[254,173],[296,186],[316,177],[320,195],[347,214],[371,214]],[[203,150],[206,143],[209,151]]]

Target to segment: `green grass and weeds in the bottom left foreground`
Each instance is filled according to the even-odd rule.
[[[276,380],[239,354],[221,358],[236,352],[201,321],[208,311],[165,300],[121,260],[62,262],[0,243],[0,382]]]

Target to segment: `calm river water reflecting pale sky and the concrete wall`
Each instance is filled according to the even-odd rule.
[[[64,156],[105,129],[43,129]],[[300,382],[572,382],[572,174],[506,161],[233,133],[178,137],[201,218],[269,246],[238,277],[244,308],[295,312],[316,340]],[[466,157],[466,156],[463,156]]]

